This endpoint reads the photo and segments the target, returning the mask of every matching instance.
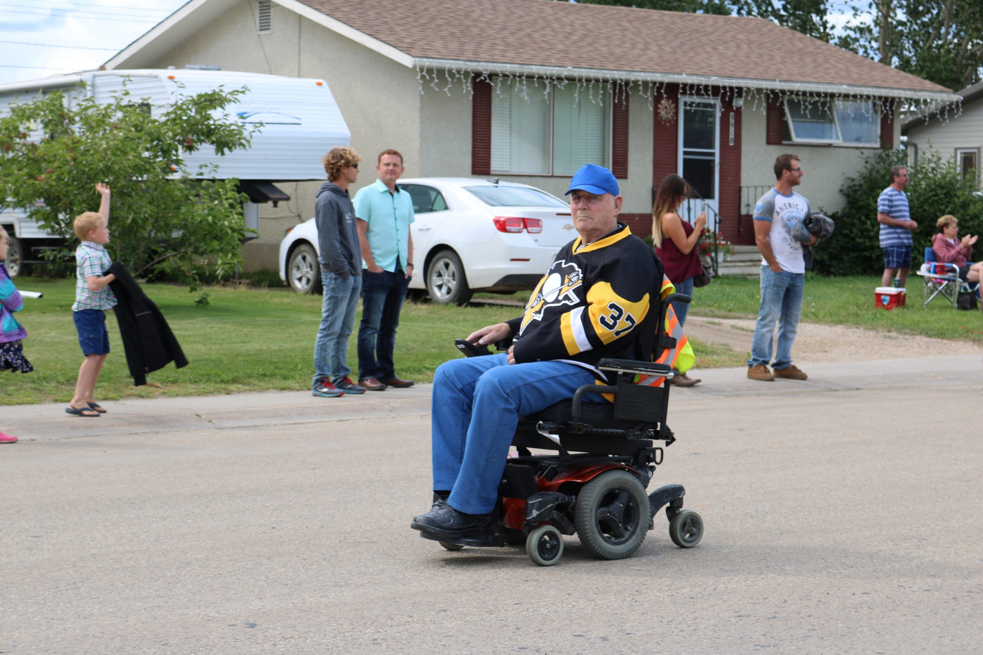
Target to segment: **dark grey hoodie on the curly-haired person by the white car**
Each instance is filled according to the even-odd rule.
[[[320,270],[343,278],[362,275],[358,219],[348,191],[325,182],[315,197],[314,222],[318,226]]]

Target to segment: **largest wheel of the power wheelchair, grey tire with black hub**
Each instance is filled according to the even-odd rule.
[[[585,484],[573,517],[577,536],[603,560],[631,557],[649,529],[649,497],[626,470],[608,470]]]

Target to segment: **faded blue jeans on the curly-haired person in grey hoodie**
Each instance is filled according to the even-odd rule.
[[[320,281],[324,290],[318,339],[314,342],[313,389],[318,387],[320,378],[338,382],[352,372],[348,367],[348,337],[355,327],[355,310],[362,289],[362,278],[358,275],[343,278],[337,273],[321,271]]]

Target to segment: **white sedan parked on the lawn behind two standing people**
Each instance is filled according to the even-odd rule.
[[[400,180],[416,221],[410,289],[435,302],[463,304],[476,291],[530,290],[577,233],[570,205],[546,191],[474,178]],[[310,219],[280,244],[280,279],[301,294],[320,293],[318,229]]]

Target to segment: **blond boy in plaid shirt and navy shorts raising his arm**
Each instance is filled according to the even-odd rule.
[[[95,383],[102,371],[102,363],[109,355],[105,310],[116,305],[116,297],[107,286],[116,276],[112,273],[103,275],[112,264],[103,247],[109,243],[109,187],[97,184],[95,190],[102,196],[99,212],[87,211],[75,219],[75,234],[82,244],[75,251],[79,279],[72,312],[79,332],[79,345],[86,359],[79,368],[75,396],[65,411],[76,416],[98,416],[105,412],[95,402]]]

